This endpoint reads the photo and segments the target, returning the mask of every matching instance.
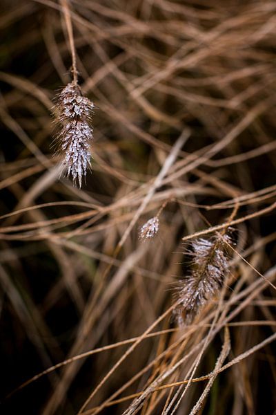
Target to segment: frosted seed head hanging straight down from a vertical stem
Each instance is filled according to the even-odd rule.
[[[90,164],[90,142],[92,141],[92,112],[94,104],[83,97],[79,85],[71,82],[57,96],[55,114],[63,125],[57,134],[59,149],[64,154],[66,175],[72,176],[74,185],[81,187]]]

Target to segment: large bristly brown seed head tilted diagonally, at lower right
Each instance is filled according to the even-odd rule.
[[[201,307],[219,292],[229,270],[226,241],[230,242],[226,235],[197,239],[185,252],[191,257],[192,269],[175,290],[175,315],[179,324],[190,324]]]

